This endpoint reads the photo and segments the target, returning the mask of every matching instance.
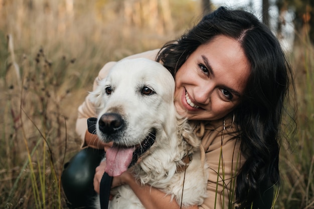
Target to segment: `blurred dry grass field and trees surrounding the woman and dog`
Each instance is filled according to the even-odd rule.
[[[77,107],[100,68],[160,48],[229,3],[0,0],[1,207],[65,208],[60,175],[79,150]],[[295,73],[298,129],[281,150],[274,208],[314,208],[314,1],[232,7],[253,12],[273,30]]]

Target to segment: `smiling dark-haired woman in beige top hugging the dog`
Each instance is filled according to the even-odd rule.
[[[292,82],[278,40],[252,14],[219,8],[156,52],[126,59],[156,56],[176,80],[178,113],[189,118],[202,139],[211,170],[209,197],[191,208],[261,207],[265,182],[279,184],[281,122]],[[105,65],[97,79],[112,65]],[[103,149],[108,145],[86,132],[86,118],[93,114],[87,98],[79,108],[77,130],[85,145]],[[105,166],[96,168],[97,192]],[[139,185],[128,171],[113,178],[112,187],[121,184],[128,184],[145,208],[180,208],[159,189]],[[262,207],[269,208],[265,196],[262,200]]]

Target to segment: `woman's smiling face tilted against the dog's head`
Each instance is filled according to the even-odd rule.
[[[175,105],[190,120],[216,120],[241,101],[250,63],[239,43],[217,36],[199,46],[176,74]]]

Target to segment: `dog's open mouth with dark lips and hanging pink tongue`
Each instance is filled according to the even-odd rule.
[[[117,176],[126,171],[154,143],[155,135],[155,131],[149,132],[141,144],[132,147],[121,147],[113,143],[106,152],[105,172],[110,176]]]

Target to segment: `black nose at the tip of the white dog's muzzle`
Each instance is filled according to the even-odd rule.
[[[99,121],[99,129],[103,133],[111,134],[123,127],[123,119],[117,113],[105,113]]]

